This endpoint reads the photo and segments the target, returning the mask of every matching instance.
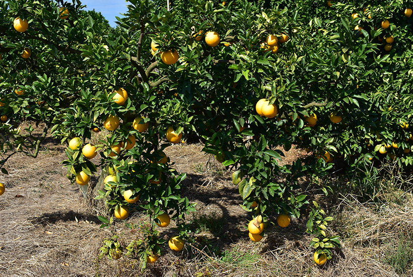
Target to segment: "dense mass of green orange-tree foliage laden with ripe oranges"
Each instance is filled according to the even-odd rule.
[[[300,177],[327,194],[320,180],[335,162],[362,182],[383,159],[412,165],[410,1],[174,1],[167,11],[163,1],[132,0],[112,30],[79,2],[2,6],[2,151],[35,156],[51,128],[71,141],[71,180],[85,185],[102,167],[97,198],[114,216],[126,218],[133,204],[151,218],[144,239],[127,247],[116,235],[106,240],[110,257],[123,251],[153,262],[164,242],[155,223],[170,217],[177,235],[190,231],[185,174],[163,153],[182,134],[200,137],[204,152],[235,169],[242,206],[254,214],[252,240],[262,239],[266,222],[277,217],[286,227],[307,210],[320,264],[339,242]],[[23,121],[44,122],[45,131],[22,132]],[[293,144],[312,159],[279,165],[277,147]],[[108,227],[113,220],[101,219]],[[183,243],[169,241],[176,251]]]

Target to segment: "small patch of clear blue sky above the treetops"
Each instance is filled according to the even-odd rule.
[[[96,12],[101,12],[112,27],[116,26],[115,17],[122,17],[120,14],[127,11],[125,0],[81,0],[81,2],[88,6],[85,10],[95,9]]]

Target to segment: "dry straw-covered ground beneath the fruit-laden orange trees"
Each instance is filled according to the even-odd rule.
[[[201,145],[185,144],[165,152],[179,172],[187,173],[182,194],[197,202],[193,218],[206,216],[216,228],[194,234],[196,241],[205,243],[187,244],[180,253],[166,246],[144,272],[139,261],[125,257],[98,259],[103,239],[111,236],[107,229],[99,229],[97,216],[105,216],[105,211],[86,200],[78,185],[66,178],[60,164],[64,147],[48,138],[38,158],[13,156],[6,166],[10,174],[0,176],[6,186],[0,196],[0,276],[398,276],[383,261],[385,249],[358,247],[350,239],[342,241],[331,261],[317,267],[305,219],[293,219],[285,229],[270,225],[261,242],[251,242],[246,229],[251,215],[239,206],[242,201],[231,173],[201,149]],[[293,149],[284,162],[304,155]],[[349,215],[340,222],[349,224],[346,219],[355,209],[350,205],[343,209]],[[116,228],[127,240],[135,235],[130,224],[145,220],[132,209]],[[405,221],[411,224],[407,216]],[[169,228],[161,236],[172,233]]]

